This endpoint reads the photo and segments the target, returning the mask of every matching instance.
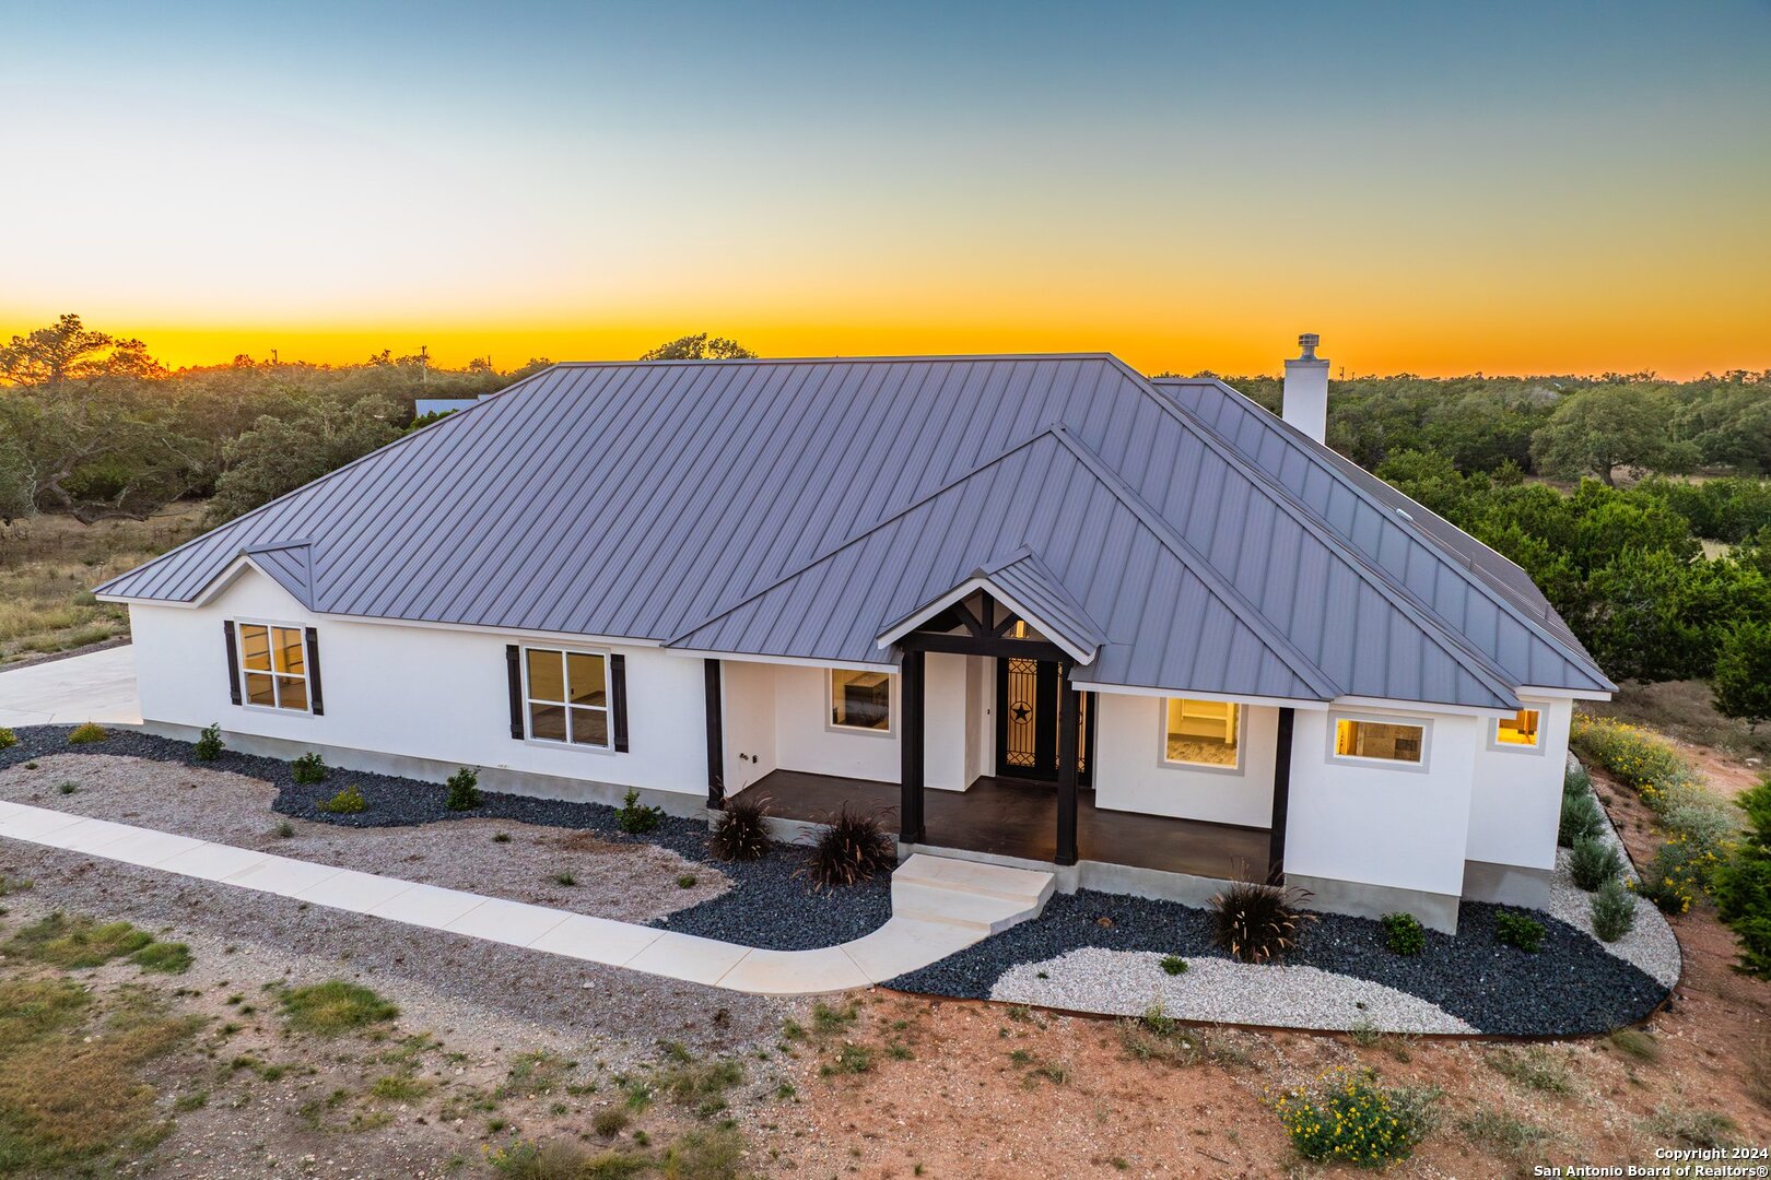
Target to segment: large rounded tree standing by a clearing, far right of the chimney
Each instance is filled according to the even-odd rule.
[[[1594,474],[1617,487],[1619,467],[1690,471],[1697,448],[1677,442],[1677,405],[1659,389],[1597,386],[1562,400],[1532,435],[1532,460],[1558,476]]]

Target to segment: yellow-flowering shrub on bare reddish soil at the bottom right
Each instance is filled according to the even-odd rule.
[[[1376,1169],[1408,1159],[1429,1127],[1429,1104],[1431,1097],[1385,1090],[1371,1072],[1335,1069],[1273,1106],[1303,1159]]]

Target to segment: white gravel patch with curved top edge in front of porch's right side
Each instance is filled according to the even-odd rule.
[[[1045,973],[1047,978],[1040,978]],[[1160,1005],[1183,1021],[1390,1033],[1473,1033],[1465,1021],[1419,996],[1319,968],[1188,959],[1169,975],[1162,955],[1084,946],[1006,971],[992,1000],[1077,1012],[1142,1015]]]

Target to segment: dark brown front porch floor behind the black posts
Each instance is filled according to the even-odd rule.
[[[896,782],[776,770],[746,787],[749,793],[767,798],[769,814],[779,819],[818,821],[847,803],[859,812],[880,812],[891,831],[901,828]],[[1056,784],[999,777],[978,778],[967,791],[928,789],[917,844],[1056,863],[1057,798]],[[1093,791],[1077,793],[1079,860],[1195,877],[1261,879],[1268,853],[1264,828],[1107,810],[1094,805]]]

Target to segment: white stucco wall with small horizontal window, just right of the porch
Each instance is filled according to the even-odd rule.
[[[1403,708],[1348,713],[1427,722],[1426,766],[1335,759],[1332,718],[1339,713],[1298,709],[1286,872],[1459,895],[1482,720]]]

